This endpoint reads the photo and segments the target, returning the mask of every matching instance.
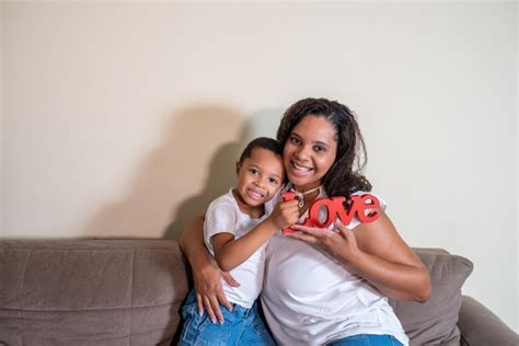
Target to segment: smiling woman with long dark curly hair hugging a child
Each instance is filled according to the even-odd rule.
[[[304,99],[285,113],[277,132],[284,146],[287,189],[300,196],[300,221],[315,198],[362,194],[368,180],[355,171],[362,137],[353,113],[325,99]],[[284,203],[284,201],[281,201]],[[273,237],[267,249],[262,304],[281,345],[407,344],[388,298],[425,301],[430,278],[400,238],[383,209],[370,223],[336,221],[330,229],[293,226]],[[224,276],[201,241],[201,221],[185,230],[182,246],[193,266],[198,308],[220,319]]]

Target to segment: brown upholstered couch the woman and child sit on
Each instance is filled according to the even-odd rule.
[[[432,296],[392,302],[412,345],[518,345],[514,331],[461,295],[469,260],[416,252]],[[169,345],[186,273],[169,240],[0,241],[0,345]]]

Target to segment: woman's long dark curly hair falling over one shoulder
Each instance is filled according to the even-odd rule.
[[[371,191],[371,184],[360,174],[368,161],[366,146],[357,119],[347,106],[326,99],[300,100],[285,112],[277,140],[285,147],[292,129],[308,115],[325,117],[336,132],[337,155],[323,177],[326,194],[348,197],[357,191]]]

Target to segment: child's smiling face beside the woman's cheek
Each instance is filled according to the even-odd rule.
[[[237,165],[240,209],[262,207],[281,187],[285,170],[280,155],[264,148],[254,148],[251,155]]]

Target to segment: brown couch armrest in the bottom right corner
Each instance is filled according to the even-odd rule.
[[[518,345],[517,334],[477,300],[462,297],[458,327],[461,345]]]

